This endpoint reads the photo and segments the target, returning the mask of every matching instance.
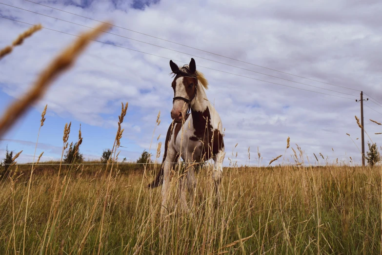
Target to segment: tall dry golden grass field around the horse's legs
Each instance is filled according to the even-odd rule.
[[[62,170],[60,177],[37,171],[26,224],[28,174],[3,180],[0,254],[21,254],[24,240],[25,254],[381,252],[380,167],[227,168],[220,204],[207,167],[198,174],[189,213],[175,207],[173,178],[163,222],[160,189],[145,188],[143,169],[117,167],[110,179],[101,167],[87,171]]]

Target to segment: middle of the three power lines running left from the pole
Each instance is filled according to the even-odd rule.
[[[5,4],[5,3],[2,3],[2,2],[0,2],[0,4],[7,5],[7,6],[10,6],[10,7],[13,7],[13,8],[17,8],[17,9],[20,9],[20,10],[24,10],[24,11],[27,11],[27,12],[39,14],[39,15],[42,15],[42,16],[45,16],[45,17],[49,17],[49,18],[52,18],[52,19],[56,19],[56,20],[59,20],[59,21],[64,21],[64,22],[75,24],[75,25],[83,26],[83,27],[86,27],[86,28],[95,29],[95,28],[90,27],[90,26],[82,25],[82,24],[75,23],[75,22],[72,22],[72,21],[62,20],[62,19],[59,19],[59,18],[56,18],[56,17],[52,17],[52,16],[41,14],[41,13],[38,13],[38,12],[26,10],[26,9],[23,9],[23,8],[20,8],[20,7],[16,7],[16,6],[13,6],[13,5],[9,5],[9,4]],[[235,65],[232,65],[232,64],[222,63],[222,62],[219,62],[219,61],[203,58],[203,57],[200,57],[200,56],[196,56],[196,55],[193,55],[193,54],[190,54],[190,53],[186,53],[186,52],[182,52],[182,51],[179,51],[179,50],[163,47],[163,46],[156,45],[156,44],[153,44],[153,43],[143,42],[143,41],[140,41],[140,40],[132,39],[132,38],[129,38],[129,37],[126,37],[126,36],[121,36],[121,35],[118,35],[118,34],[107,32],[107,31],[103,31],[103,32],[107,33],[107,34],[119,36],[119,37],[122,37],[122,38],[126,38],[126,39],[129,39],[129,40],[133,40],[133,41],[136,41],[136,42],[145,43],[145,44],[149,44],[149,45],[152,45],[152,46],[160,47],[160,48],[163,48],[163,49],[175,51],[175,52],[178,52],[178,53],[181,53],[181,54],[189,55],[191,57],[196,57],[196,58],[204,59],[204,60],[207,60],[207,61],[215,62],[215,63],[218,63],[218,64],[224,64],[224,65],[232,66],[232,67],[239,68],[239,69],[242,69],[242,70],[246,70],[246,71],[250,71],[250,72],[266,75],[266,76],[269,76],[269,77],[281,79],[281,80],[284,80],[284,81],[289,81],[289,82],[293,82],[293,83],[297,83],[297,84],[301,84],[301,85],[311,86],[311,87],[315,87],[315,88],[319,88],[319,89],[324,89],[324,90],[328,90],[328,91],[332,91],[332,92],[336,92],[336,93],[340,93],[340,94],[356,97],[355,95],[352,95],[352,94],[348,94],[348,93],[344,93],[344,92],[340,92],[340,91],[336,91],[336,90],[332,90],[332,89],[322,88],[322,87],[319,87],[319,86],[309,85],[309,84],[305,84],[305,83],[300,83],[300,82],[296,82],[296,81],[289,80],[289,79],[284,79],[284,78],[281,78],[281,77],[278,77],[278,76],[273,76],[273,75],[270,75],[270,74],[265,74],[265,73],[257,72],[257,71],[254,71],[254,70],[242,68],[242,67],[235,66]]]

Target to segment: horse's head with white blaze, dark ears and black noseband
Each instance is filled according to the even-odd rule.
[[[179,68],[177,64],[170,60],[172,73],[175,75],[171,86],[174,89],[173,106],[171,118],[180,123],[191,108],[191,104],[196,100],[198,72],[196,71],[195,60],[191,59],[189,65]]]

